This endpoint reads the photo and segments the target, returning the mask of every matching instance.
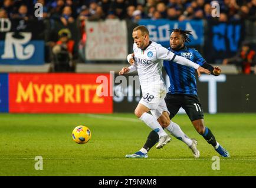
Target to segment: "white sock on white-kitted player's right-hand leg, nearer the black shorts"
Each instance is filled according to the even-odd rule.
[[[178,124],[170,121],[170,125],[166,127],[166,129],[170,132],[172,136],[176,137],[176,139],[181,140],[188,146],[192,145],[192,140],[185,135],[185,133],[180,129]]]

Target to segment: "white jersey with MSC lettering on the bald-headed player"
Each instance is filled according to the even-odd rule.
[[[156,42],[151,42],[145,51],[137,48],[134,43],[133,52],[135,59],[133,66],[137,68],[142,92],[150,88],[165,88],[162,76],[163,60],[170,61],[175,54]]]

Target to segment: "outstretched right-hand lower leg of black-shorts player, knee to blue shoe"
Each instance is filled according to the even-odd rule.
[[[208,127],[205,127],[204,119],[194,120],[192,122],[196,131],[204,137],[206,142],[211,144],[216,152],[219,153],[222,157],[229,157],[229,153],[225,150],[219,143],[216,141],[215,136],[212,134],[211,130]]]

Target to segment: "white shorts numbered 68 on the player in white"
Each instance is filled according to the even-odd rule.
[[[165,103],[165,96],[166,89],[161,89],[160,92],[151,90],[143,95],[139,103],[149,108],[152,115],[158,119],[163,112],[167,112],[170,115]]]

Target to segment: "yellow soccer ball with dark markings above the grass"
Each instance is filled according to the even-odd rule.
[[[86,126],[77,126],[72,132],[72,138],[76,143],[87,143],[91,139],[91,131]]]

